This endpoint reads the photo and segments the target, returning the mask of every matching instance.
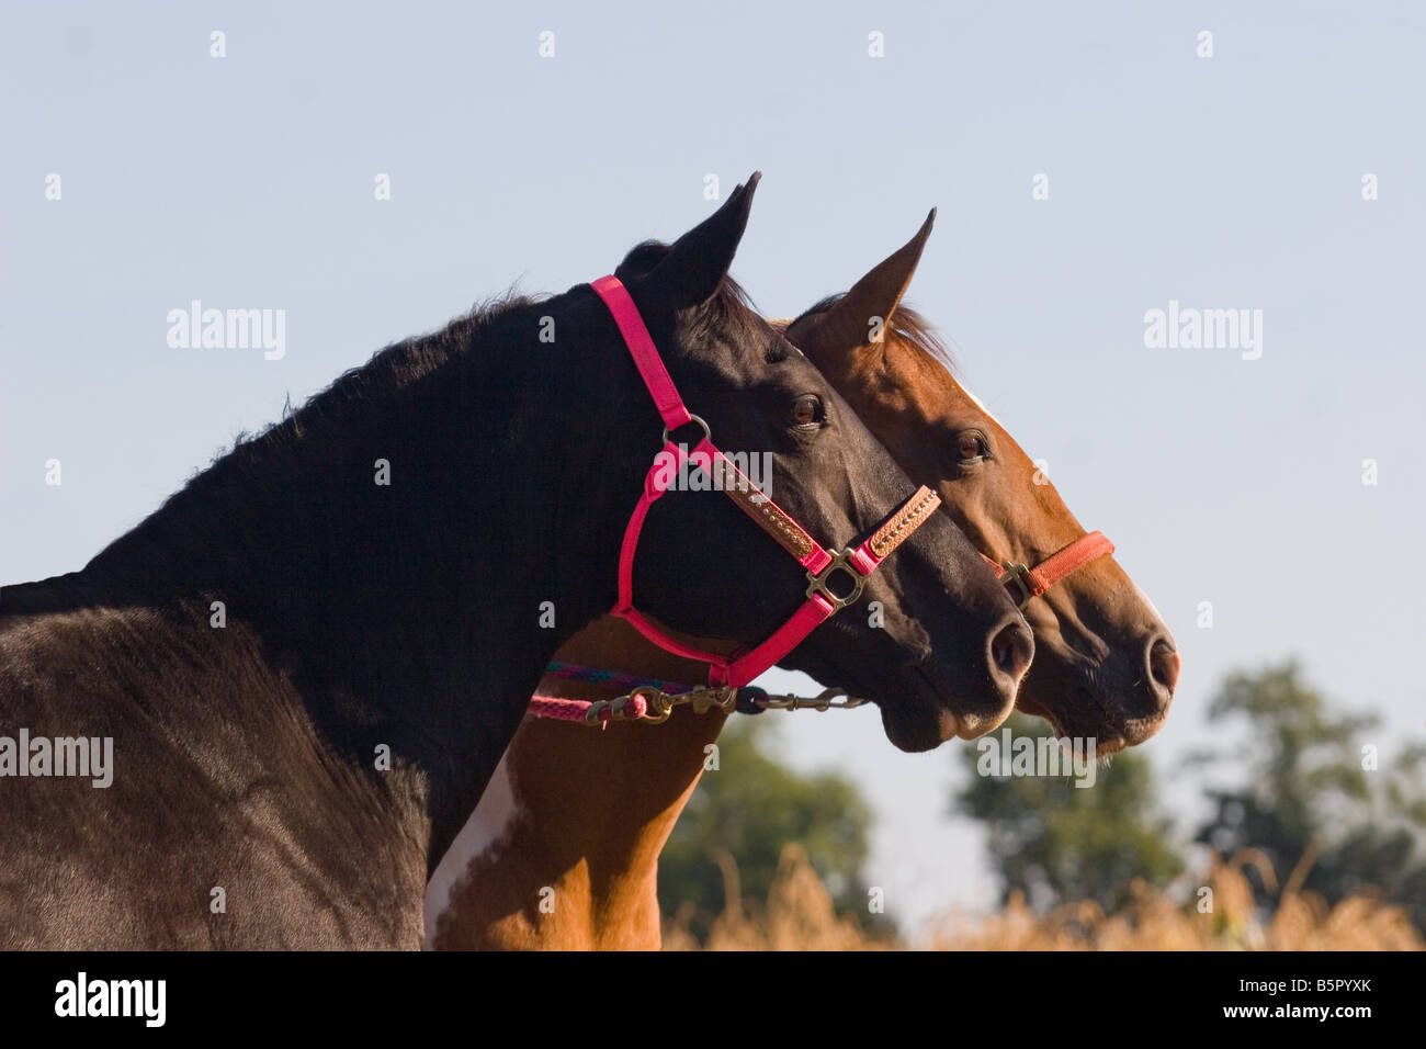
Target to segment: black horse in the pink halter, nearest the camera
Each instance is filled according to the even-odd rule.
[[[720,444],[771,451],[776,501],[847,542],[913,485],[729,281],[754,186],[617,273]],[[659,432],[589,285],[506,301],[382,350],[83,571],[6,587],[0,736],[113,738],[114,768],[97,788],[20,754],[40,775],[0,776],[0,946],[419,946],[429,871],[540,672],[615,601]],[[945,709],[1004,709],[1031,651],[931,517],[868,584],[884,627],[848,609],[783,661],[927,745]],[[637,584],[733,645],[807,579],[730,500],[679,492]]]

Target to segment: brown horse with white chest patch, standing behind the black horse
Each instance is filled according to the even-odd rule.
[[[1035,565],[1085,529],[1030,457],[945,368],[934,334],[901,297],[931,231],[917,235],[841,298],[793,321],[789,341],[984,555]],[[884,323],[878,323],[884,321]],[[871,335],[883,328],[884,338]],[[1178,678],[1172,638],[1112,558],[1099,558],[1024,607],[1037,657],[1017,705],[1098,754],[1139,744],[1168,712]],[[702,667],[605,619],[559,659],[697,682]],[[607,685],[546,679],[543,692],[610,698]],[[657,856],[722,726],[687,708],[662,726],[606,731],[528,716],[481,806],[428,889],[438,949],[659,946]],[[971,738],[994,724],[963,722]]]

